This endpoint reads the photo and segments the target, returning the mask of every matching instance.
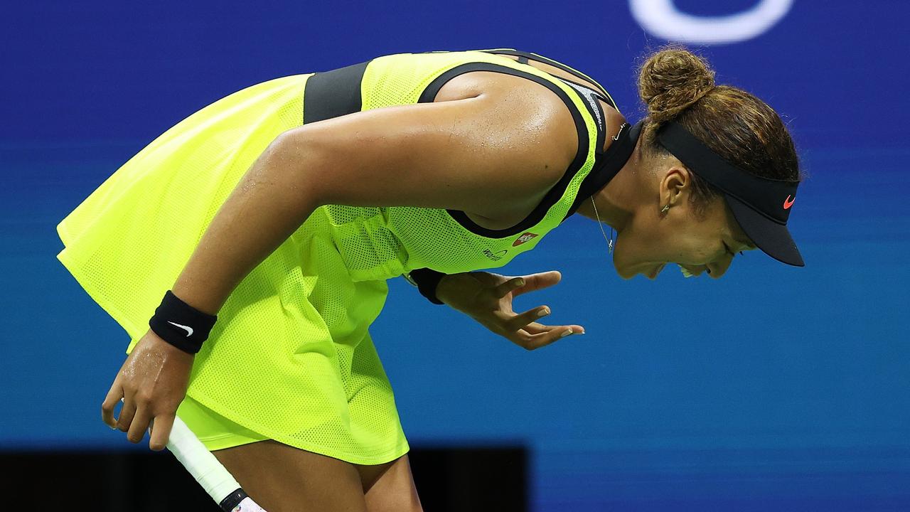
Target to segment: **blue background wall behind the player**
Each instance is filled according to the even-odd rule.
[[[623,1],[130,4],[0,19],[3,449],[147,449],[99,420],[128,338],[56,261],[55,227],[193,111],[374,56],[509,46],[597,78],[637,120],[635,65],[665,42]],[[570,220],[504,269],[561,270],[516,309],[587,329],[532,353],[390,282],[372,333],[411,443],[529,445],[538,511],[910,507],[908,16],[797,1],[760,36],[695,46],[789,123],[805,268],[753,251],[719,281],[623,281],[596,225]]]

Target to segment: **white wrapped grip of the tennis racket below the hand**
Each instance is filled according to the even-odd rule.
[[[227,472],[225,466],[221,466],[218,459],[208,451],[202,441],[199,441],[187,424],[183,423],[180,416],[174,417],[174,426],[171,427],[170,437],[167,439],[167,449],[187,468],[189,474],[196,478],[199,485],[216,503],[221,503],[222,499],[240,487],[237,480]]]

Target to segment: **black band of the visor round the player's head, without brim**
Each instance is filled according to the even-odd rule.
[[[743,201],[778,224],[786,224],[799,181],[768,179],[740,169],[714,153],[675,121],[657,132],[657,140],[699,178]]]

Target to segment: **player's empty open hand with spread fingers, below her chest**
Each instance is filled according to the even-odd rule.
[[[461,272],[442,278],[436,288],[440,301],[526,350],[541,348],[568,334],[584,333],[581,325],[544,325],[537,320],[550,314],[538,306],[521,314],[512,311],[512,298],[552,286],[559,271],[508,277],[486,271]]]

